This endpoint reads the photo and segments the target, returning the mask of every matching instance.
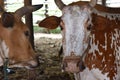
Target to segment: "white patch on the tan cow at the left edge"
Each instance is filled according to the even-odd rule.
[[[9,48],[5,41],[0,40],[0,66],[3,65],[4,59],[8,58]]]

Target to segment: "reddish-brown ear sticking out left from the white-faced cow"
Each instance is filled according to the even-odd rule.
[[[38,23],[40,27],[44,27],[48,29],[55,29],[59,26],[59,24],[60,24],[60,17],[56,17],[56,16],[49,16]]]

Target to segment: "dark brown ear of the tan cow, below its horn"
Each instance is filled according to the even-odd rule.
[[[14,16],[9,12],[4,12],[1,15],[2,25],[6,28],[13,27],[14,25]]]

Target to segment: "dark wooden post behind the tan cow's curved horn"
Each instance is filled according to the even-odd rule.
[[[24,6],[32,5],[32,0],[24,0]],[[30,29],[30,42],[34,49],[34,30],[33,30],[33,16],[32,13],[25,15],[25,23]]]

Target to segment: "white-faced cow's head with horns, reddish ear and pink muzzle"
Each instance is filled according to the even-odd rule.
[[[50,16],[39,23],[39,26],[50,29],[56,28],[58,24],[61,26],[65,71],[76,73],[85,68],[83,56],[89,46],[91,13],[96,2],[91,0],[86,5],[65,5],[61,0],[55,0],[56,5],[62,10],[62,16]]]

